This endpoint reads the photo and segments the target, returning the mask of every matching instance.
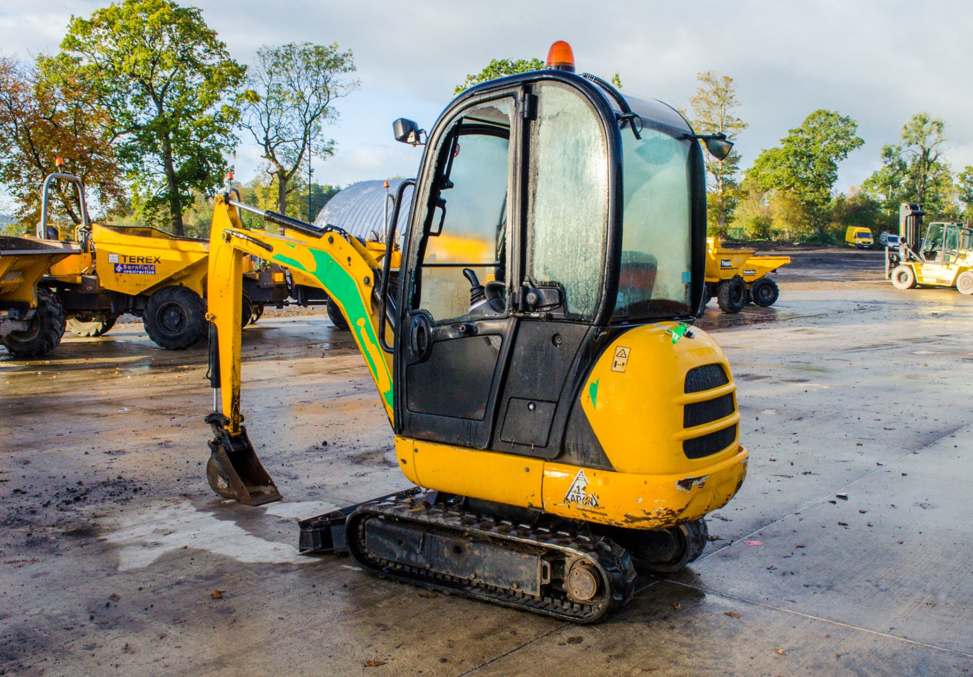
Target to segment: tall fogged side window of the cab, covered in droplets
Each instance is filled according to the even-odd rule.
[[[576,89],[544,83],[530,137],[526,274],[559,286],[569,317],[598,306],[608,221],[608,151],[600,118]]]

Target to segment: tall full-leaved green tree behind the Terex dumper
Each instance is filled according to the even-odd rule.
[[[61,49],[106,112],[136,211],[182,234],[194,191],[209,195],[223,182],[246,68],[197,8],[171,0],[123,0],[72,18]]]

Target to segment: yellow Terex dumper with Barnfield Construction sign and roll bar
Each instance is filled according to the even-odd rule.
[[[38,237],[58,239],[49,221],[54,182],[74,186],[82,223],[73,240],[80,251],[54,264],[41,281],[67,314],[67,329],[85,337],[107,334],[123,313],[142,319],[146,334],[170,350],[191,347],[206,336],[205,296],[209,242],[146,226],[109,226],[90,220],[85,185],[72,174],[44,181]],[[247,259],[241,273],[240,321],[259,319],[265,304],[282,306],[288,292],[279,267],[255,269]]]

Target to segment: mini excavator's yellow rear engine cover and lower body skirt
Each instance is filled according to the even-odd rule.
[[[719,364],[729,378],[730,366],[702,330],[673,341],[675,327],[663,323],[626,332],[604,350],[582,388],[578,404],[614,471],[396,438],[399,467],[421,486],[601,524],[655,529],[703,517],[737,493],[746,476],[747,451],[739,444],[736,406],[710,423],[681,426],[686,405],[727,394],[735,398],[736,384],[730,379],[685,394],[690,369]],[[615,360],[620,347],[628,355],[624,371]],[[700,459],[683,452],[684,440],[731,426],[733,442],[722,451]],[[587,481],[588,502],[566,500],[579,474]]]

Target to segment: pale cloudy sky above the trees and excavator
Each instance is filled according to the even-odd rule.
[[[54,52],[71,15],[102,0],[4,0],[0,50],[21,58]],[[715,70],[739,87],[749,123],[744,165],[818,108],[858,122],[865,145],[841,167],[836,188],[860,184],[884,143],[925,110],[943,118],[955,167],[973,164],[973,3],[644,2],[582,3],[267,2],[198,0],[230,53],[248,62],[261,45],[337,42],[355,54],[361,89],[339,104],[330,133],[337,155],[315,162],[314,178],[346,185],[413,175],[418,151],[395,143],[397,117],[432,125],[452,89],[494,57],[543,58],[555,40],[574,48],[578,70],[622,76],[625,89],[686,106],[696,74]],[[257,171],[241,135],[237,178]]]

